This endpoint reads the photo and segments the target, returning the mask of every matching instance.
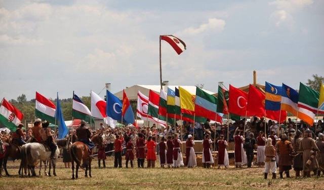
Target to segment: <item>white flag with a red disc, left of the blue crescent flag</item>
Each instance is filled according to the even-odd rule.
[[[111,128],[116,126],[117,121],[106,114],[106,102],[93,91],[91,91],[91,115],[95,118],[103,119]]]

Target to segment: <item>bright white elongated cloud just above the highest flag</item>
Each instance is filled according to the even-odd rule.
[[[207,24],[201,24],[198,28],[189,27],[181,31],[181,34],[197,35],[203,32],[212,31],[220,32],[225,27],[225,21],[217,18],[208,19]]]

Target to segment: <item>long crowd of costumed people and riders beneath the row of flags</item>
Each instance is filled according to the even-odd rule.
[[[43,122],[44,124],[44,122]],[[43,125],[42,124],[42,125]],[[25,133],[19,126],[17,131],[12,133],[12,139],[24,144],[28,142],[41,142],[45,137],[42,131],[50,133],[55,139],[57,131],[47,128],[42,130],[41,120],[37,119],[34,126]],[[48,126],[47,126],[48,127]],[[290,119],[282,125],[277,125],[273,121],[265,123],[264,119],[253,117],[251,121],[245,119],[235,123],[212,126],[210,120],[206,123],[183,122],[182,125],[168,125],[157,128],[152,127],[135,128],[115,128],[104,127],[92,131],[86,127],[86,122],[82,121],[79,128],[72,129],[67,135],[67,139],[72,143],[75,141],[85,142],[90,149],[94,144],[89,141],[93,134],[105,134],[105,141],[98,144],[93,156],[98,156],[98,166],[106,167],[107,157],[114,155],[114,167],[123,167],[123,157],[125,156],[126,168],[133,168],[135,160],[137,167],[144,168],[146,160],[147,168],[154,168],[157,157],[159,157],[160,167],[195,167],[197,166],[196,153],[193,148],[195,142],[201,141],[203,146],[202,162],[204,168],[210,168],[214,164],[213,151],[217,151],[217,167],[229,166],[228,145],[234,143],[235,167],[241,168],[244,165],[252,167],[254,151],[257,152],[257,165],[264,167],[264,178],[267,179],[271,172],[272,178],[276,178],[278,168],[280,178],[290,177],[290,170],[294,169],[296,177],[310,177],[311,172],[320,176],[324,173],[324,126],[321,120],[318,124],[309,126],[303,121],[296,125]],[[84,135],[85,134],[85,135]],[[2,132],[2,136],[6,136]],[[81,137],[84,136],[84,137]],[[255,138],[256,137],[256,138]],[[46,139],[46,138],[45,138]],[[185,161],[181,145],[185,144]],[[69,167],[70,154],[63,150],[63,162],[65,167]],[[215,163],[216,164],[216,163]]]

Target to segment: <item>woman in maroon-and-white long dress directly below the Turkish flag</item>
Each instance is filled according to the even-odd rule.
[[[238,129],[238,128],[237,128]],[[236,130],[237,130],[236,129]],[[236,135],[238,133],[238,135]],[[247,154],[243,148],[244,138],[239,134],[240,132],[235,131],[234,133],[234,157],[235,157],[235,167],[242,167],[242,165],[247,164]]]

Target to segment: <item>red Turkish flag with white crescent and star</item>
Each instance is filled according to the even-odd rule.
[[[249,94],[229,85],[229,112],[246,116]],[[248,113],[248,116],[250,114]]]

